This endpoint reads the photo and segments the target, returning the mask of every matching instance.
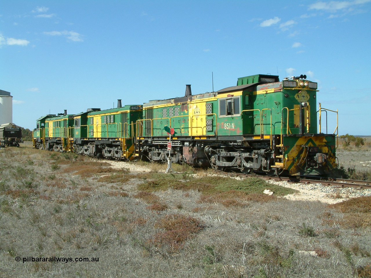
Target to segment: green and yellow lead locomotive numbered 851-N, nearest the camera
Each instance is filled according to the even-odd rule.
[[[186,85],[184,97],[144,103],[142,159],[165,162],[170,154],[173,162],[198,167],[325,175],[336,166],[335,134],[317,132],[317,83],[305,79],[246,76],[217,92],[192,95]]]

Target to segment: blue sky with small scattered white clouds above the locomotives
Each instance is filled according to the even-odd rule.
[[[215,91],[306,74],[340,134],[371,135],[370,20],[371,0],[0,0],[0,89],[33,129],[49,110],[211,92],[211,72]]]

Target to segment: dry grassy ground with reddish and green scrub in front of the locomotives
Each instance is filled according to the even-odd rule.
[[[88,157],[2,148],[0,277],[370,274],[367,198],[334,206],[290,201],[277,198],[285,188],[258,179],[182,165],[183,173],[165,175],[153,167],[134,175]],[[263,195],[264,189],[275,195]],[[17,256],[99,262],[23,264]]]

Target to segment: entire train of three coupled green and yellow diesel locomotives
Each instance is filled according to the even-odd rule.
[[[305,75],[246,76],[199,95],[186,85],[184,97],[43,116],[33,145],[116,160],[167,162],[170,155],[172,162],[243,173],[327,175],[337,166],[338,124],[322,133],[321,115],[334,112],[337,119],[338,112],[320,103],[317,110],[316,93],[317,83]]]

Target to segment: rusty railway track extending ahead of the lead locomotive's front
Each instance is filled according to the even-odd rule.
[[[353,188],[360,188],[360,189],[371,189],[371,181],[357,181],[352,179],[334,179],[334,178],[308,178],[308,176],[263,176],[263,175],[245,175],[244,176],[257,176],[262,179],[266,180],[275,180],[275,181],[288,181],[288,182],[295,182],[295,183],[320,183],[324,186],[338,186],[338,187],[353,187]]]

